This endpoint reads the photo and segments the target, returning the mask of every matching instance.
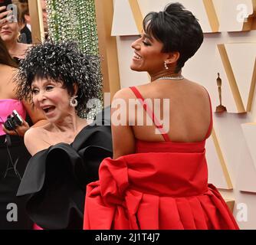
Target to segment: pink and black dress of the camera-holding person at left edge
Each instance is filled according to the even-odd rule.
[[[30,230],[33,224],[25,210],[26,198],[17,198],[16,194],[21,181],[20,178],[31,155],[28,153],[23,139],[18,136],[10,136],[11,145],[7,149],[6,134],[2,129],[2,124],[14,109],[25,119],[26,109],[21,101],[0,100],[0,230]],[[11,161],[15,165],[12,165]],[[3,218],[6,217],[6,207],[10,203],[17,204],[17,222],[8,222],[7,219]]]

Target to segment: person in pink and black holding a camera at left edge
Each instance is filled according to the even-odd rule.
[[[15,73],[17,64],[0,38],[0,230],[32,228],[32,222],[25,211],[26,198],[16,198],[16,193],[31,157],[23,139],[29,129],[25,117],[28,114],[35,123],[34,126],[44,122],[42,113],[33,109],[30,102],[18,100]],[[7,130],[3,125],[14,109],[21,116],[23,123],[15,130]],[[8,207],[10,204],[14,206]]]

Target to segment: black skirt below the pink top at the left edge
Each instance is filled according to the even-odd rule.
[[[25,211],[27,197],[17,198],[16,193],[31,155],[23,138],[10,136],[8,147],[5,138],[0,136],[0,230],[30,230],[33,222]]]

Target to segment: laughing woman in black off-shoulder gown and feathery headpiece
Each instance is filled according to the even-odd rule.
[[[85,186],[112,155],[110,126],[80,117],[100,95],[99,70],[98,58],[70,41],[32,47],[21,61],[18,96],[31,99],[48,123],[25,134],[32,158],[18,196],[30,194],[28,214],[42,228],[82,228]]]

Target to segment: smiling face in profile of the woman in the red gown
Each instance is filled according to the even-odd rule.
[[[164,70],[164,62],[168,54],[162,53],[161,42],[143,31],[142,36],[133,42],[132,47],[134,49],[133,61],[130,65],[132,70],[147,71],[151,76]]]

